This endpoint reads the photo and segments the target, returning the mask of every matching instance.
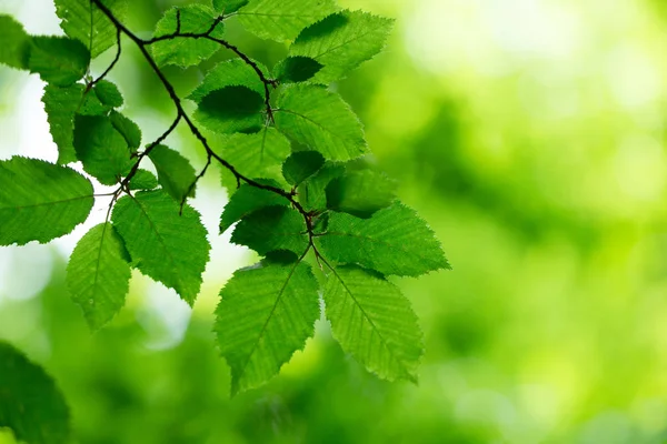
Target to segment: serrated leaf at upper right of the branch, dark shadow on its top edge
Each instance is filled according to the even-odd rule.
[[[370,60],[385,47],[394,20],[362,11],[340,11],[299,34],[289,56],[315,59],[323,68],[315,81],[330,83]]]

